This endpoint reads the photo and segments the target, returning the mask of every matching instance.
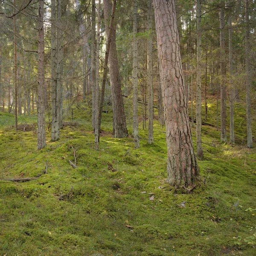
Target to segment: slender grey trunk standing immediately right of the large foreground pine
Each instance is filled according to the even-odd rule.
[[[202,53],[202,30],[201,30],[201,0],[197,0],[197,47],[196,47],[196,155],[204,159],[202,149],[202,79],[201,79],[201,53]]]

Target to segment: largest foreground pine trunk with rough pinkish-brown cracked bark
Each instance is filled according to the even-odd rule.
[[[154,13],[166,123],[168,182],[188,186],[195,182],[199,171],[189,124],[175,0],[154,0]]]

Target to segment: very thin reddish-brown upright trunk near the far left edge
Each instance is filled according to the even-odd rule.
[[[15,6],[15,0],[13,1]],[[15,10],[13,11],[15,13]],[[17,36],[16,36],[16,15],[13,17],[13,36],[14,36],[14,117],[15,131],[18,129],[17,118]]]

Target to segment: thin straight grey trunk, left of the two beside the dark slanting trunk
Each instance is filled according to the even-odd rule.
[[[96,6],[95,0],[92,0],[92,45],[91,45],[91,75],[92,75],[92,126],[95,129],[96,119]]]

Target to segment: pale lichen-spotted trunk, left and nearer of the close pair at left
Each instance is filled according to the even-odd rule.
[[[52,141],[60,138],[60,128],[58,122],[58,102],[57,102],[57,51],[56,51],[56,0],[51,1],[51,108],[52,108]]]

